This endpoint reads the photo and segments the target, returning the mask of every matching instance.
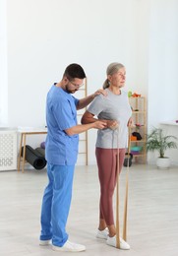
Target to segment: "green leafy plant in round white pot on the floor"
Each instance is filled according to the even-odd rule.
[[[175,136],[164,134],[161,128],[152,128],[147,136],[146,147],[148,152],[158,152],[157,167],[168,168],[170,166],[170,160],[165,157],[165,151],[167,149],[177,149],[176,140]]]

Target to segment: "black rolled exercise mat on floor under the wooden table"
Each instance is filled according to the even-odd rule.
[[[23,157],[24,147],[22,148]],[[26,160],[35,168],[42,169],[46,165],[46,160],[39,153],[33,150],[29,145],[26,145]]]

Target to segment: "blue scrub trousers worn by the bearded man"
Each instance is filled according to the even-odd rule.
[[[63,246],[68,239],[66,224],[72,199],[75,165],[47,164],[49,183],[44,190],[41,208],[40,240],[52,238]]]

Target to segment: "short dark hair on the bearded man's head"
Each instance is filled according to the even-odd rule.
[[[66,76],[69,80],[73,80],[75,78],[85,79],[86,74],[84,69],[76,63],[70,64],[67,66],[66,70],[64,71],[63,77]]]

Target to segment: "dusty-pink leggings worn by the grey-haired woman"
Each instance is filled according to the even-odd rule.
[[[119,168],[117,153],[119,152]],[[95,149],[100,182],[100,216],[107,225],[114,224],[112,197],[117,182],[117,169],[121,172],[126,149]]]

